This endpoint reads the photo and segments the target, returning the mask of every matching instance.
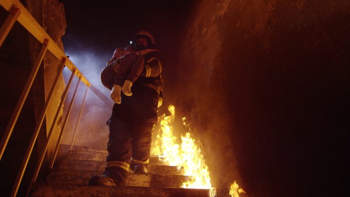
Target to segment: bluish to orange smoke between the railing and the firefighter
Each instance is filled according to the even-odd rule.
[[[100,72],[104,68],[107,60],[110,59],[112,52],[111,54],[107,52],[98,53],[94,48],[82,48],[80,45],[77,45],[74,50],[66,50],[66,53],[86,79],[88,79],[97,90],[105,95],[106,98],[109,98],[110,91],[102,85]],[[71,75],[71,71],[65,68],[63,75],[67,82]],[[69,106],[76,83],[77,77],[75,77],[70,87],[65,107]],[[71,144],[85,90],[86,85],[80,83],[69,121],[67,123],[67,128],[65,129],[65,134],[62,138],[62,144]],[[111,112],[112,102],[111,106],[106,106],[105,102],[97,97],[92,90],[88,90],[81,119],[77,128],[74,145],[89,146],[91,148],[102,150],[106,149],[108,140],[108,127],[106,121],[110,117]]]

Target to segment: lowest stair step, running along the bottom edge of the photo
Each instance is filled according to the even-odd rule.
[[[74,184],[33,184],[31,197],[208,197],[209,189],[164,188],[164,187],[131,187],[131,186],[88,186]]]

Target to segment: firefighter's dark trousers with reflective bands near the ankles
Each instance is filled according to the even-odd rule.
[[[122,94],[121,104],[114,104],[107,121],[110,128],[106,171],[111,167],[128,171],[133,162],[148,162],[152,128],[157,122],[159,93],[144,85],[132,86],[133,96]],[[113,173],[113,172],[111,172]]]

